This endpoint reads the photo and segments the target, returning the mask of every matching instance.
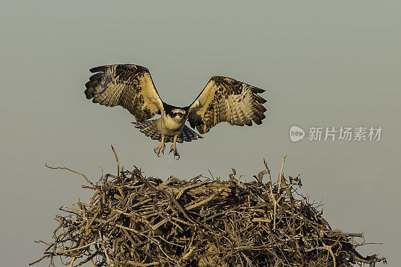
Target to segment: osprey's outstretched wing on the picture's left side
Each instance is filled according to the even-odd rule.
[[[137,121],[160,113],[163,104],[145,67],[131,64],[100,66],[90,69],[96,73],[85,84],[87,99],[105,106],[122,106]]]

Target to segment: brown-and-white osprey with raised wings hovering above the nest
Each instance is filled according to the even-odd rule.
[[[156,91],[147,68],[119,64],[95,67],[95,73],[85,84],[85,95],[93,103],[105,106],[120,105],[126,108],[136,121],[132,122],[145,136],[158,140],[154,152],[164,154],[164,143],[172,142],[170,154],[179,159],[176,142],[191,142],[203,138],[185,125],[201,134],[216,124],[227,121],[231,125],[261,124],[266,116],[266,102],[258,95],[265,90],[223,76],[213,76],[196,99],[188,106],[176,107],[163,102]],[[161,117],[152,119],[155,114]]]

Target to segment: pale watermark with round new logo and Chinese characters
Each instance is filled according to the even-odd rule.
[[[308,141],[380,141],[382,127],[318,127],[309,128]],[[290,128],[290,140],[298,142],[303,140],[305,131],[296,125]]]

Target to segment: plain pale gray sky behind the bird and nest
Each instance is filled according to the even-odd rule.
[[[54,2],[0,4],[2,220],[5,266],[43,253],[62,205],[85,202],[92,181],[121,165],[147,175],[191,178],[231,168],[249,178],[263,170],[302,175],[301,192],[323,199],[333,228],[363,231],[363,254],[398,266],[401,216],[398,1]],[[178,144],[179,161],[157,158],[121,107],[85,99],[89,68],[146,66],[162,99],[184,106],[213,75],[265,88],[262,125],[221,123],[203,140]],[[378,142],[308,140],[289,129],[381,126]],[[167,149],[169,144],[167,144]],[[37,266],[47,266],[47,262]]]

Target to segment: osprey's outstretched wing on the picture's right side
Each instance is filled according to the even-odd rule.
[[[213,76],[189,106],[188,122],[201,134],[222,121],[239,126],[251,126],[252,120],[261,124],[266,100],[258,93],[264,91],[229,77]]]

